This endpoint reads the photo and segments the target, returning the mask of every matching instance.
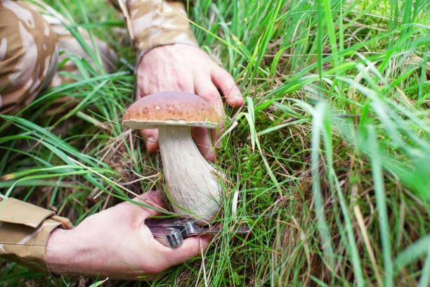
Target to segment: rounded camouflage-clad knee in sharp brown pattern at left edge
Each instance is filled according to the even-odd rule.
[[[0,113],[13,114],[51,83],[57,35],[27,3],[1,1],[0,15]]]

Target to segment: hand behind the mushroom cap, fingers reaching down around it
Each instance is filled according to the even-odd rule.
[[[202,49],[186,44],[159,46],[143,56],[137,70],[136,100],[158,91],[188,91],[211,103],[221,122],[219,129],[194,127],[191,134],[200,153],[214,161],[212,143],[216,143],[223,132],[225,119],[221,90],[232,108],[243,103],[242,95],[231,75],[217,65]],[[158,148],[158,130],[141,129],[145,146],[149,152]]]

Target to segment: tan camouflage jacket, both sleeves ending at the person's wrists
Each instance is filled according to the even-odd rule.
[[[182,3],[162,0],[110,0],[126,21],[138,53],[165,44],[197,42],[190,30]],[[0,198],[0,255],[24,266],[49,273],[46,244],[53,229],[72,229],[69,219],[14,198]]]

